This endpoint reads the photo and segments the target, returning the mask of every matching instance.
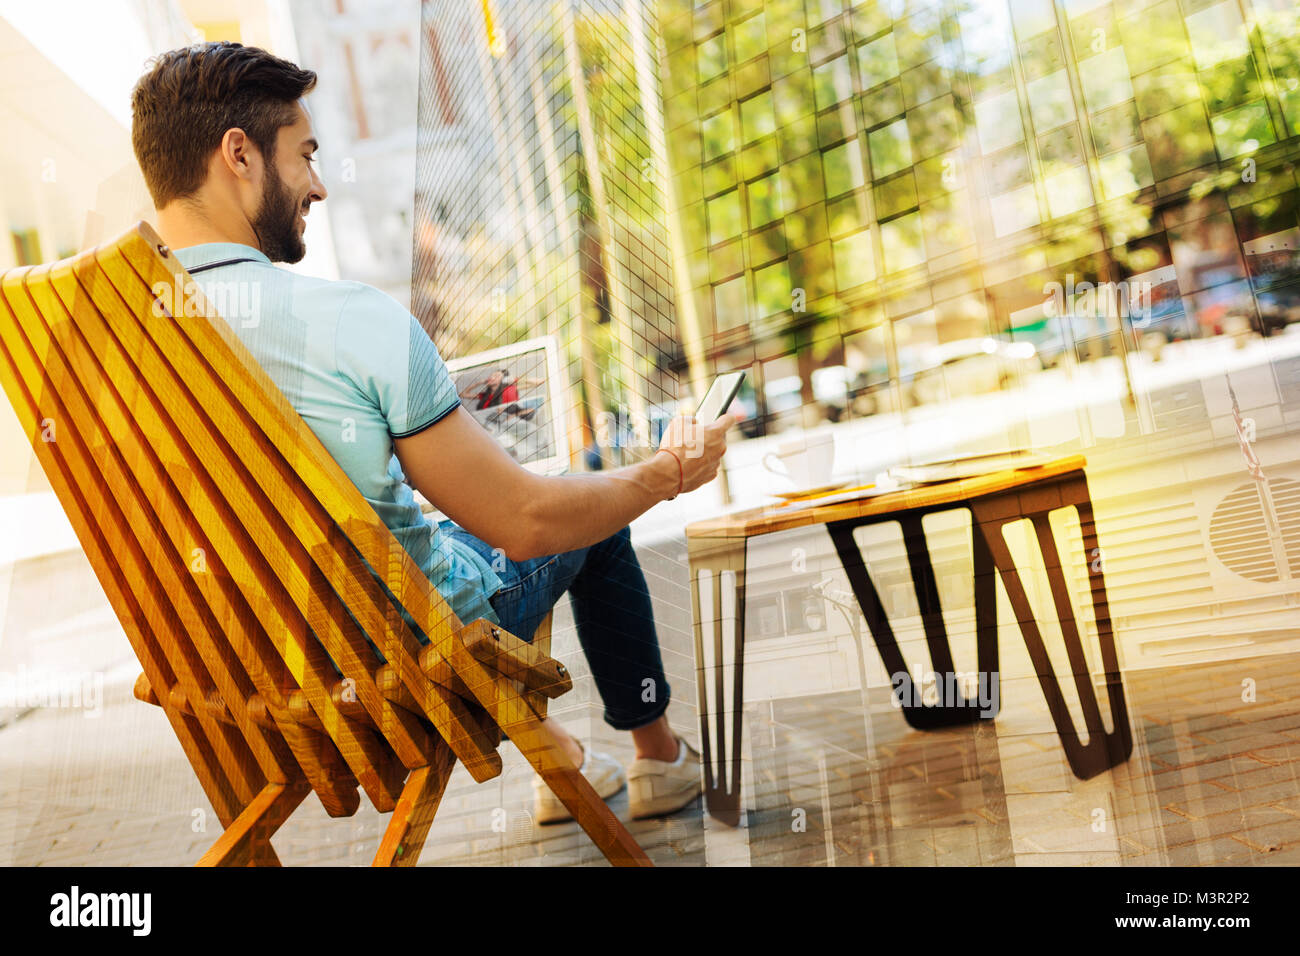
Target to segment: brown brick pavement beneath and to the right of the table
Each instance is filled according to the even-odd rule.
[[[884,691],[866,758],[855,692],[750,708],[754,739],[776,740],[755,757],[753,862],[1300,864],[1300,661],[1139,671],[1126,684],[1134,754],[1086,782],[1054,734],[1004,736],[1002,721],[922,734]],[[792,831],[796,808],[807,834]]]

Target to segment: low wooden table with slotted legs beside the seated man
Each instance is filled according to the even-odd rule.
[[[864,524],[897,522],[902,528],[913,587],[920,606],[922,626],[933,672],[940,685],[937,704],[924,704],[915,695],[894,688],[904,717],[918,730],[972,723],[992,719],[975,702],[957,695],[949,698],[944,688],[956,687],[952,649],[944,627],[939,604],[939,589],[931,567],[930,551],[922,522],[935,511],[966,509],[971,512],[972,568],[975,578],[975,635],[979,671],[989,680],[998,679],[997,658],[997,593],[994,571],[1002,579],[1011,609],[1020,626],[1030,659],[1039,675],[1043,695],[1061,736],[1070,769],[1079,779],[1088,779],[1128,760],[1132,752],[1132,734],[1124,705],[1123,684],[1115,657],[1110,611],[1106,604],[1106,585],[1101,562],[1088,561],[1100,555],[1097,529],[1093,523],[1092,499],[1084,475],[1082,455],[1014,471],[1001,471],[979,477],[959,479],[941,484],[920,485],[906,490],[889,492],[874,497],[837,501],[828,505],[772,505],[749,511],[723,515],[686,525],[686,549],[690,561],[690,602],[696,627],[696,680],[699,698],[699,734],[705,762],[705,796],[710,814],[734,826],[740,822],[741,779],[741,713],[744,710],[745,665],[745,550],[749,538],[777,531],[824,524],[836,553],[853,587],[854,596],[867,620],[871,636],[890,675],[906,675],[893,628],[885,615],[880,596],[867,575],[862,553],[853,538],[855,528]],[[1110,698],[1110,732],[1101,722],[1097,696],[1093,691],[1088,665],[1083,653],[1079,626],[1060,563],[1049,515],[1062,507],[1074,507],[1079,515],[1083,536],[1084,562],[1092,591],[1092,607],[1097,623],[1105,667],[1106,695]],[[1037,536],[1052,600],[1056,605],[1061,633],[1065,637],[1070,670],[1074,674],[1079,702],[1088,731],[1083,744],[1070,719],[1061,685],[1048,658],[1043,636],[1030,607],[1020,574],[1002,536],[1008,522],[1030,519]],[[729,574],[728,574],[729,572]],[[712,587],[710,619],[701,614],[701,578],[707,575]],[[731,646],[724,644],[723,580],[734,579],[734,620]],[[710,640],[706,641],[706,632]],[[732,652],[732,665],[725,665],[724,649]],[[729,671],[731,685],[724,680]],[[907,680],[906,676],[902,680]],[[710,709],[708,687],[712,687],[716,708]],[[1000,697],[998,697],[1000,700]],[[725,721],[731,719],[731,747],[727,744]],[[728,753],[729,750],[729,753]]]

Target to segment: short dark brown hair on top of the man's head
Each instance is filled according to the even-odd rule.
[[[131,92],[131,144],[153,204],[192,195],[231,127],[274,163],[276,134],[316,74],[257,47],[199,43],[157,56]]]

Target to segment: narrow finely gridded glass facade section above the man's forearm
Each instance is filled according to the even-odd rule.
[[[572,466],[645,454],[681,351],[651,12],[426,0],[422,34],[412,311],[448,358],[554,337]]]

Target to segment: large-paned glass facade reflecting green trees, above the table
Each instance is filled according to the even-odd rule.
[[[1290,0],[666,0],[659,17],[690,295],[710,362],[751,369],[754,434],[1044,369],[1119,377],[1130,420],[1084,416],[1086,445],[1150,433],[1200,402],[1141,381],[1164,345],[1300,320]],[[1062,294],[1089,286],[1134,302]],[[1123,367],[1079,368],[1097,362]],[[1294,362],[1274,365],[1294,410]],[[1041,431],[1004,416],[952,450]]]

